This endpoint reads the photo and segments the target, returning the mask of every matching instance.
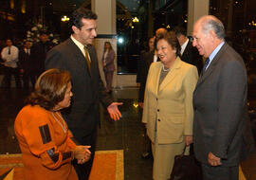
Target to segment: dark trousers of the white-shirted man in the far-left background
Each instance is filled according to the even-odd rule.
[[[13,75],[15,79],[16,87],[21,88],[19,68],[5,67],[4,69],[5,69],[5,78],[4,78],[5,87],[10,88],[10,78],[11,78],[11,75]]]

